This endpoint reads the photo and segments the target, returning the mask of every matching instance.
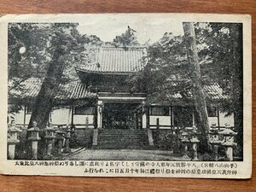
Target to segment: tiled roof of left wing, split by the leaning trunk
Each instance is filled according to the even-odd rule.
[[[10,83],[9,83],[10,85]],[[20,83],[19,89],[10,90],[11,97],[17,98],[32,98],[38,96],[42,81],[40,79],[26,79]],[[79,81],[60,85],[55,93],[55,99],[69,100],[69,99],[84,99],[95,97],[96,94],[89,92],[86,85]]]

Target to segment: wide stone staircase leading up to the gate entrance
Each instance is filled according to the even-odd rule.
[[[99,129],[97,142],[92,148],[97,149],[154,149],[148,143],[146,130]]]

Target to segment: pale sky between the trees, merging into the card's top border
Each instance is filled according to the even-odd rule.
[[[140,44],[148,42],[148,39],[148,43],[153,44],[165,32],[172,32],[174,36],[183,35],[181,19],[172,18],[170,15],[87,15],[79,22],[79,32],[96,35],[107,42],[113,41],[113,38],[124,33],[127,26],[130,26],[137,31]]]

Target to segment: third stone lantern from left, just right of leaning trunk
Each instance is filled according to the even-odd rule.
[[[45,159],[50,160],[52,157],[52,148],[55,142],[55,129],[52,123],[49,123],[49,125],[45,129],[45,139],[47,142],[47,152]]]

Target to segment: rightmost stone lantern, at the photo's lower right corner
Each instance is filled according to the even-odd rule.
[[[219,132],[219,134],[224,136],[221,145],[226,148],[226,155],[228,160],[233,160],[233,148],[236,147],[237,143],[235,143],[235,136],[237,132],[232,131],[229,125],[226,125],[226,129],[224,131]]]

